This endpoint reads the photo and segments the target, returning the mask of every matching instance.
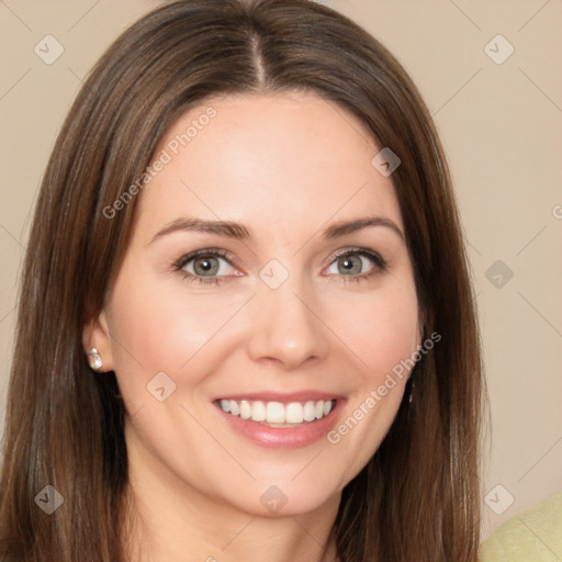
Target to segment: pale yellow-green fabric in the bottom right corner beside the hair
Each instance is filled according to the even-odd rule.
[[[517,514],[483,543],[481,562],[561,562],[562,492]]]

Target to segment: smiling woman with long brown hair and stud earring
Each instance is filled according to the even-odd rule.
[[[398,63],[183,0],[98,63],[24,266],[2,560],[475,561],[479,336]]]

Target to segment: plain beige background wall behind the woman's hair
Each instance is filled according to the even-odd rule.
[[[158,3],[0,1],[2,417],[18,274],[55,136],[94,60]],[[435,116],[450,159],[490,387],[484,492],[492,494],[482,498],[485,537],[506,518],[562,490],[562,3],[323,3],[366,26],[403,63]],[[47,34],[65,49],[52,65],[34,53]],[[497,34],[515,48],[503,64],[486,50],[503,57],[506,43],[495,40],[484,49]],[[496,260],[503,271],[488,271]],[[507,282],[506,268],[513,271]]]

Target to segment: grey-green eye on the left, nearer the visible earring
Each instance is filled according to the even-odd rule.
[[[218,283],[223,278],[237,276],[237,270],[231,263],[225,250],[207,248],[192,251],[182,256],[173,269],[184,273],[191,282]]]

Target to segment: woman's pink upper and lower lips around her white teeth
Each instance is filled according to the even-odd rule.
[[[224,400],[261,400],[263,402],[305,402],[307,400],[335,400],[334,409],[325,417],[314,422],[305,422],[295,427],[269,427],[262,422],[252,419],[241,419],[224,412],[217,401],[213,402],[218,414],[225,423],[238,435],[248,439],[254,445],[267,449],[302,449],[308,447],[321,439],[336,426],[347,398],[334,394],[318,392],[299,392],[291,394],[279,393],[251,393],[251,394],[231,394],[221,396]],[[221,400],[217,398],[217,400]]]

